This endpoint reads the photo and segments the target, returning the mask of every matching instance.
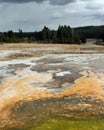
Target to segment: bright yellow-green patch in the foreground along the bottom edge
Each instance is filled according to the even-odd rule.
[[[104,130],[104,119],[66,120],[49,119],[38,127],[28,130]]]

